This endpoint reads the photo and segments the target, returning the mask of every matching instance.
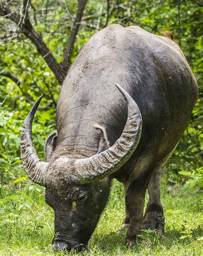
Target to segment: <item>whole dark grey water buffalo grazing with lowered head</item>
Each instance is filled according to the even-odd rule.
[[[113,178],[124,185],[127,243],[134,244],[143,227],[164,233],[161,173],[196,99],[197,82],[172,39],[119,24],[90,38],[63,82],[46,162],[32,140],[41,97],[21,134],[24,169],[45,187],[45,201],[54,209],[55,249],[87,247]]]

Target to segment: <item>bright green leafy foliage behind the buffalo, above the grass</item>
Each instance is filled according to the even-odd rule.
[[[17,2],[11,8],[18,10]],[[110,1],[107,17],[105,1],[87,2],[84,17],[72,52],[73,62],[88,38],[106,24],[119,23],[123,26],[139,25],[151,33],[173,30],[174,39],[179,42],[199,84],[200,98],[194,107],[188,129],[167,165],[168,173],[175,181],[180,181],[179,171],[201,166],[203,149],[202,133],[202,78],[203,62],[201,56],[201,9],[195,1]],[[35,30],[42,35],[57,61],[62,60],[63,49],[70,35],[72,20],[77,12],[76,1],[33,1],[29,6],[30,21]],[[20,12],[20,11],[19,11]],[[99,18],[98,18],[99,17]],[[0,161],[3,181],[21,177],[19,138],[21,126],[31,105],[43,94],[44,104],[37,113],[33,126],[35,145],[43,158],[42,146],[45,137],[54,129],[54,115],[60,84],[45,60],[38,54],[30,40],[21,33],[21,27],[6,18],[3,19],[0,46]],[[64,22],[66,21],[66,22]],[[16,84],[5,73],[17,78]],[[6,85],[6,86],[5,86]],[[47,129],[45,130],[45,127]],[[16,162],[17,161],[17,162]],[[15,163],[16,162],[16,163]],[[11,167],[12,166],[12,167]],[[6,173],[12,168],[9,179]],[[18,172],[17,172],[18,170]],[[20,175],[21,172],[21,175]],[[5,177],[4,177],[5,176]],[[6,179],[6,181],[4,180]]]

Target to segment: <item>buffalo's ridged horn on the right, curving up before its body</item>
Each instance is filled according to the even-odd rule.
[[[119,85],[116,87],[128,103],[128,120],[120,138],[106,151],[93,157],[75,160],[76,177],[88,183],[111,175],[131,157],[140,140],[142,118],[134,99]]]

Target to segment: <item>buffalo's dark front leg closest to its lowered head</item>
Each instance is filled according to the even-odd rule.
[[[134,181],[125,189],[125,225],[128,225],[127,244],[134,245],[137,235],[143,229],[143,211],[146,187],[143,182]],[[124,224],[124,223],[123,223]]]

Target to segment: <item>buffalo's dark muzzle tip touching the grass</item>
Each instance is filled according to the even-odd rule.
[[[87,244],[78,243],[76,241],[67,241],[64,238],[54,238],[52,241],[52,247],[56,251],[75,251],[80,253],[87,250]]]

